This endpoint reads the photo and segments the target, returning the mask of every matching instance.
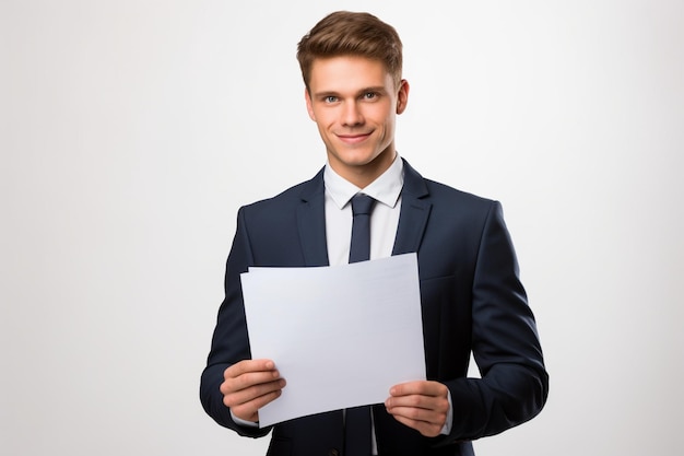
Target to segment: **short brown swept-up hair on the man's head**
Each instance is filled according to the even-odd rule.
[[[401,39],[389,24],[368,13],[338,11],[328,14],[297,45],[297,60],[304,84],[309,90],[311,66],[317,58],[359,56],[379,60],[394,80],[401,82]]]

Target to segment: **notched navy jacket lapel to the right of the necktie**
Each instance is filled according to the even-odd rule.
[[[404,185],[401,191],[401,212],[392,255],[417,252],[427,226],[433,204],[423,176],[404,160]]]

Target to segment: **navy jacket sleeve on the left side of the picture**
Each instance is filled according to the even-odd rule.
[[[200,400],[204,411],[219,424],[233,429],[240,435],[260,437],[268,434],[271,429],[249,428],[235,423],[231,410],[223,404],[223,395],[219,389],[223,383],[223,372],[229,365],[251,358],[240,273],[246,272],[252,262],[245,209],[241,208],[238,211],[237,231],[226,264],[225,299],[219,308],[211,351],[200,382]]]

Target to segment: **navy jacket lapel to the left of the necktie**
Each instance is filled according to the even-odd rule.
[[[323,171],[304,184],[297,208],[297,227],[305,266],[328,266]]]

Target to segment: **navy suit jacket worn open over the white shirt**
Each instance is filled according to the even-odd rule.
[[[341,411],[272,429],[245,428],[232,420],[219,390],[223,371],[251,358],[239,274],[250,266],[328,265],[323,195],[321,171],[272,199],[240,208],[226,265],[225,300],[202,373],[204,410],[240,435],[258,437],[272,430],[270,456],[341,454]],[[378,452],[472,455],[470,441],[531,419],[549,390],[534,317],[500,204],[424,179],[404,162],[393,255],[412,252],[418,258],[427,378],[449,388],[453,425],[449,435],[424,437],[396,421],[384,406],[374,406]],[[471,351],[482,378],[465,377]]]

